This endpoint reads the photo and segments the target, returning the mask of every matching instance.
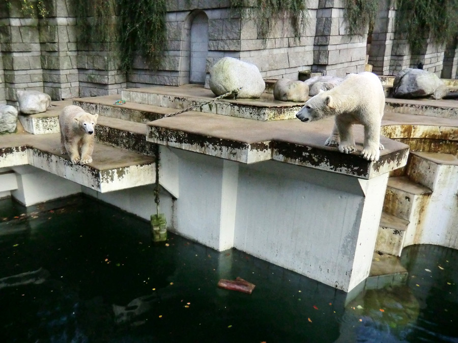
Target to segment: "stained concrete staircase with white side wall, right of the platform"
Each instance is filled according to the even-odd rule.
[[[456,156],[411,151],[404,172],[388,179],[375,250],[400,256],[412,244],[457,248]]]

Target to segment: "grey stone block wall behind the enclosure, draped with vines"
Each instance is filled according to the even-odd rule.
[[[307,25],[299,38],[287,17],[272,18],[273,29],[261,37],[256,20],[232,10],[230,0],[170,0],[167,46],[159,70],[151,70],[138,55],[127,75],[118,69],[118,42],[77,42],[71,8],[75,1],[46,2],[52,8],[44,19],[24,15],[20,0],[9,0],[11,6],[0,2],[0,103],[17,105],[18,89],[45,91],[61,100],[119,94],[126,87],[189,83],[191,24],[197,15],[208,21],[207,73],[225,56],[253,63],[265,79],[298,79],[304,71],[345,76],[365,67],[367,35],[347,35],[345,0],[308,0]],[[380,2],[369,50],[374,72],[393,75],[421,59],[424,69],[440,75],[444,65],[443,75],[456,77],[456,43],[446,50],[427,44],[411,55],[405,36],[394,32],[395,12],[394,0]]]

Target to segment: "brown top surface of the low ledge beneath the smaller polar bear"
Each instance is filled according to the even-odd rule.
[[[63,155],[60,153],[60,134],[32,135],[28,133],[20,133],[0,136],[0,150],[16,146],[36,148],[42,152],[57,155],[61,158],[69,160],[67,154]],[[155,162],[154,157],[100,143],[95,144],[92,158],[93,162],[88,163],[87,166],[100,171]]]

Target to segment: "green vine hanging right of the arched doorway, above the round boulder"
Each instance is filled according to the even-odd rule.
[[[293,20],[295,36],[300,37],[308,13],[304,0],[231,0],[231,9],[234,11],[238,8],[245,8],[242,15],[255,20],[262,38],[268,37],[275,19],[281,20],[287,16]]]

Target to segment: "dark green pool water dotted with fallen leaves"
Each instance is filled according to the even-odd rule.
[[[150,241],[149,223],[90,198],[0,200],[0,342],[458,342],[448,248],[407,248],[407,285],[349,302],[237,250]],[[251,295],[216,287],[237,276]]]

